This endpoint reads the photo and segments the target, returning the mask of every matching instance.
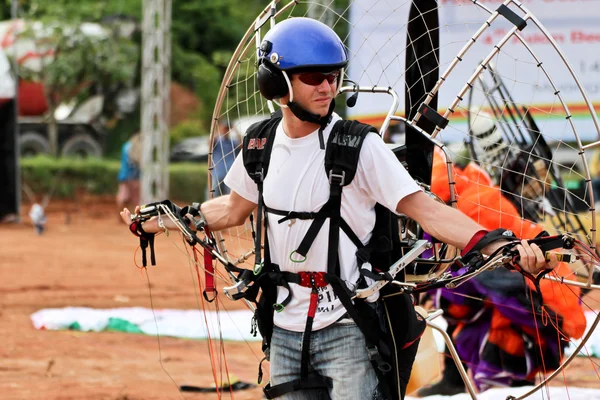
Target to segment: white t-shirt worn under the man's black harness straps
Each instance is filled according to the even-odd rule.
[[[340,117],[333,115],[331,123],[323,131],[325,143],[335,122]],[[316,212],[329,199],[329,180],[325,172],[325,150],[319,147],[318,131],[308,136],[291,139],[277,127],[275,142],[269,162],[269,170],[263,184],[266,206],[283,211]],[[256,183],[247,174],[242,154],[236,158],[225,178],[225,184],[245,199],[258,203]],[[342,191],[341,216],[356,236],[367,244],[375,225],[375,204],[380,203],[392,211],[405,196],[419,191],[396,156],[387,148],[376,133],[369,133],[364,140],[358,169],[352,183]],[[281,224],[280,215],[267,214],[271,261],[282,271],[326,272],[327,245],[329,242],[329,219],[314,240],[306,261],[292,262],[290,254],[298,248],[313,220],[296,220]],[[341,278],[352,288],[360,277],[356,261],[356,246],[340,230],[339,261]],[[294,255],[295,259],[298,255]],[[303,332],[310,303],[311,289],[290,283],[292,298],[280,313],[275,313],[274,323],[280,328]],[[346,311],[335,296],[331,286],[319,288],[319,303],[313,321],[313,330],[329,326]],[[278,302],[287,296],[285,288],[278,288]]]

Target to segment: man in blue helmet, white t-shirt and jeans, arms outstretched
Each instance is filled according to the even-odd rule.
[[[349,287],[356,287],[361,276],[354,241],[340,234],[339,245],[329,249],[329,222],[325,221],[313,238],[310,250],[301,257],[298,248],[312,221],[298,218],[277,223],[281,217],[272,215],[277,214],[276,210],[316,214],[328,203],[330,180],[334,177],[328,176],[323,167],[325,143],[340,120],[332,111],[348,62],[344,45],[326,25],[308,18],[291,18],[267,33],[259,57],[257,79],[261,94],[279,104],[282,111],[281,122],[274,131],[262,196],[244,167],[242,154],[225,178],[231,193],[202,204],[203,218],[212,231],[241,225],[264,200],[265,218],[269,221],[265,235],[269,246],[265,248],[269,249],[267,256],[273,264],[283,272],[307,273],[312,279],[314,274],[327,271],[331,251],[334,258],[337,256],[341,280]],[[262,146],[262,142],[248,146],[250,144],[253,148]],[[381,138],[371,132],[364,138],[356,176],[344,187],[340,206],[341,218],[362,244],[369,242],[373,231],[376,203],[406,214],[431,235],[461,249],[482,230],[468,217],[423,193]],[[121,216],[126,223],[131,222],[128,210],[123,210]],[[146,222],[143,229],[157,231],[156,221]],[[491,252],[501,245],[501,242],[492,243],[485,251]],[[526,271],[537,273],[547,267],[536,245],[523,242],[517,248],[519,263]],[[302,386],[299,385],[292,391],[271,392],[268,396],[281,394],[278,398],[317,399],[328,395],[333,400],[382,398],[365,337],[346,316],[350,310],[342,306],[339,291],[334,291],[331,285],[319,286],[318,290],[315,287],[314,282],[312,287],[289,283],[287,290],[281,287],[278,290],[278,303],[286,299],[289,302],[273,318],[270,386],[282,387],[280,385],[298,381],[302,374],[300,364],[306,361],[304,350],[309,357],[310,371],[330,379],[325,389],[327,393],[323,394],[322,388],[293,390]],[[318,307],[312,302],[317,293]],[[308,324],[307,312],[310,315],[315,310],[309,311],[309,307],[316,308],[314,319],[310,321],[312,327]],[[310,340],[304,343],[307,338]]]

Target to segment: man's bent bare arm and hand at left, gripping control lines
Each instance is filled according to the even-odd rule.
[[[246,218],[254,209],[256,204],[246,200],[236,192],[232,191],[225,196],[219,196],[212,200],[202,203],[200,210],[206,218],[206,224],[212,231],[239,226],[246,221]],[[139,206],[135,208],[135,213],[139,213]],[[121,211],[121,219],[128,226],[131,224],[131,212],[128,209]],[[169,230],[176,230],[175,224],[166,217],[162,218],[165,227]],[[144,231],[156,233],[162,230],[158,226],[158,218],[151,218],[142,224]]]

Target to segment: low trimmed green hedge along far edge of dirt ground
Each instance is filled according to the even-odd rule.
[[[21,159],[23,182],[38,197],[75,198],[84,191],[94,195],[117,193],[119,162],[101,159],[33,157]],[[169,198],[179,202],[203,201],[207,166],[180,163],[169,166]]]

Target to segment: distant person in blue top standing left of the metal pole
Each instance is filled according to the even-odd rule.
[[[122,209],[140,203],[140,158],[142,136],[135,133],[121,147],[121,167],[117,177],[117,206]]]

